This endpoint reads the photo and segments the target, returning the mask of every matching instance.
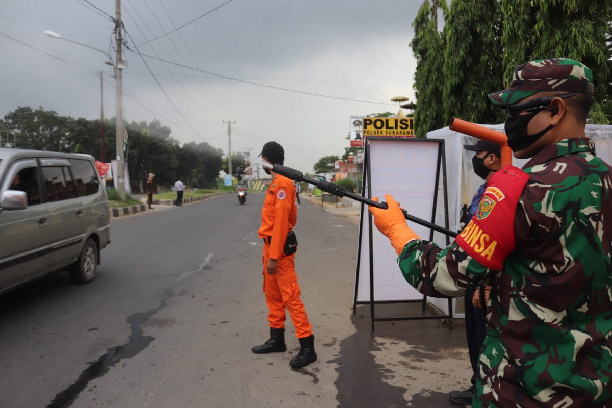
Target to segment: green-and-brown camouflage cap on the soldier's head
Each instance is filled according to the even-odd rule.
[[[489,94],[495,105],[508,106],[537,92],[562,91],[593,94],[593,73],[567,58],[537,59],[515,67],[510,89]]]

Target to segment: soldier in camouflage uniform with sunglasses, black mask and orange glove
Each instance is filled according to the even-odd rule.
[[[491,177],[448,247],[420,240],[391,196],[370,207],[420,292],[493,285],[472,407],[612,406],[612,168],[584,132],[592,92],[583,64],[544,59],[489,95],[513,154],[531,160]]]

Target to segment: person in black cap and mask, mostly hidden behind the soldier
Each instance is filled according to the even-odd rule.
[[[465,218],[461,220],[463,224],[468,224],[478,210],[478,205],[485,193],[488,180],[501,168],[501,146],[487,140],[479,140],[476,144],[465,144],[463,148],[476,152],[474,157],[472,157],[472,169],[476,176],[485,179],[485,182],[476,190]],[[485,291],[485,303],[487,303],[491,287],[487,286],[483,290]],[[463,295],[463,302],[465,310],[465,335],[468,340],[469,362],[472,366],[472,384],[465,391],[450,391],[449,398],[455,404],[469,405],[472,403],[474,390],[476,390],[478,358],[480,357],[480,350],[487,334],[485,313],[483,306],[480,304],[480,286],[468,287],[465,295]],[[487,305],[485,304],[484,307],[486,308]]]

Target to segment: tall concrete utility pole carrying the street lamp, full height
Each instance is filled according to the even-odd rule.
[[[123,123],[123,78],[122,69],[125,61],[122,60],[121,50],[121,0],[115,0],[115,136],[117,138],[117,187],[119,197],[125,201],[125,164],[124,164],[124,123]]]

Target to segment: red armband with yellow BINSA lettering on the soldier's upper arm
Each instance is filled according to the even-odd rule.
[[[457,236],[458,245],[489,269],[500,270],[514,250],[514,215],[528,174],[506,166],[493,174],[478,210]]]

